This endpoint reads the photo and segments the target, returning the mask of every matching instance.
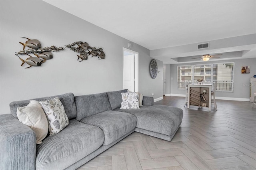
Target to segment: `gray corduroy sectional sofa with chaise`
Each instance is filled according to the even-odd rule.
[[[183,110],[154,105],[143,97],[140,109],[120,109],[121,91],[59,97],[69,125],[36,144],[34,131],[19,122],[17,107],[30,100],[10,103],[10,113],[0,115],[0,170],[76,169],[134,131],[170,141],[180,127]]]

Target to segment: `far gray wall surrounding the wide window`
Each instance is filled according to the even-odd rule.
[[[234,93],[232,92],[216,92],[216,97],[230,97],[230,98],[242,98],[249,99],[250,97],[250,77],[256,75],[256,58],[248,58],[248,59],[234,59],[234,60],[223,60],[223,61],[209,61],[208,63],[225,63],[225,62],[233,62],[235,63],[234,67]],[[191,63],[191,64],[203,64],[200,63]],[[172,64],[170,65],[170,77],[171,80],[171,94],[172,95],[185,95],[184,89],[177,89],[177,66],[178,65],[190,65],[186,64]],[[244,65],[250,66],[250,74],[242,74],[241,67]],[[166,65],[167,67],[167,65]],[[166,77],[167,79],[167,77]],[[168,87],[166,87],[168,88]]]

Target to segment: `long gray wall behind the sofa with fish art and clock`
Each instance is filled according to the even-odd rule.
[[[90,8],[90,7],[85,7]],[[102,47],[106,59],[89,57],[78,62],[76,53],[66,48],[53,52],[53,59],[40,67],[20,67],[14,52],[22,50],[18,42],[38,39],[42,47],[62,46],[75,42],[88,42]],[[129,40],[64,12],[41,0],[0,0],[0,114],[8,114],[9,103],[24,99],[59,95],[101,93],[122,89],[122,47]],[[139,91],[154,98],[162,97],[162,67],[152,79],[149,74],[150,50],[133,43],[139,53]],[[25,56],[23,56],[25,57]]]

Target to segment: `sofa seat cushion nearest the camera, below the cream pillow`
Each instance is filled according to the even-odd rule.
[[[48,136],[36,148],[36,169],[65,169],[99,148],[104,133],[98,127],[70,120],[68,127]]]

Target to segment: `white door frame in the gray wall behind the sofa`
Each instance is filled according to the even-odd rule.
[[[134,92],[139,91],[139,53],[123,47],[123,89],[124,89],[124,51],[134,54]]]

